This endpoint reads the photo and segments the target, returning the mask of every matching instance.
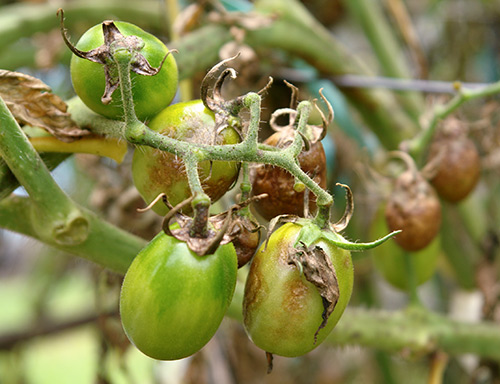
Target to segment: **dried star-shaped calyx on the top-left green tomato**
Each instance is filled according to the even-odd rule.
[[[106,81],[104,94],[101,97],[101,102],[103,104],[109,104],[111,102],[113,93],[120,86],[118,68],[115,60],[116,52],[128,52],[128,54],[132,56],[130,61],[130,70],[143,76],[154,76],[158,74],[168,55],[171,52],[176,52],[175,50],[169,51],[163,57],[160,65],[158,67],[153,67],[140,53],[142,48],[144,48],[143,40],[138,36],[124,36],[112,20],[102,22],[104,44],[90,51],[81,51],[70,42],[67,36],[66,29],[64,27],[64,11],[61,8],[57,10],[57,15],[60,15],[61,17],[60,29],[62,38],[70,51],[82,59],[103,65]]]

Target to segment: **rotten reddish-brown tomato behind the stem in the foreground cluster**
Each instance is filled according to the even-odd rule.
[[[278,131],[271,135],[264,144],[279,146],[287,131]],[[311,175],[321,188],[326,188],[326,156],[323,144],[317,141],[308,151],[302,151],[298,157],[301,169]],[[269,164],[261,164],[252,170],[252,193],[267,193],[268,197],[252,204],[259,215],[266,220],[283,214],[304,216],[304,191],[294,190],[295,179],[286,170]],[[316,209],[315,196],[309,193],[309,209]]]

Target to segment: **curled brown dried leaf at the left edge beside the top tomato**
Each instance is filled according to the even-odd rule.
[[[43,128],[61,141],[70,142],[90,134],[78,128],[66,103],[35,77],[0,70],[0,97],[19,123]]]

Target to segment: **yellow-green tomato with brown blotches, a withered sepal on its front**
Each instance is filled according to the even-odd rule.
[[[315,342],[322,322],[323,303],[316,287],[288,264],[301,230],[293,223],[276,230],[255,254],[245,285],[243,322],[255,345],[266,352],[295,357],[320,345],[335,327],[352,293],[354,271],[351,254],[324,240],[314,243],[331,258],[339,284],[339,299]]]

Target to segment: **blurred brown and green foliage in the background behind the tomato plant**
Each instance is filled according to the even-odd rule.
[[[449,99],[451,85],[440,82],[500,80],[498,0],[301,3],[335,37],[346,57],[361,63],[365,75],[378,76],[383,83],[379,87],[397,100],[408,126],[398,126],[399,131],[392,131],[394,137],[411,138],[426,112]],[[221,8],[229,12],[253,9],[252,2],[245,0],[200,1],[198,5],[194,8],[193,2],[181,0],[2,0],[0,68],[36,76],[64,99],[74,95],[68,69],[70,52],[61,39],[55,16],[58,7],[66,11],[66,26],[74,42],[102,20],[121,19],[141,26],[173,47],[204,26],[227,25],[221,20]],[[406,12],[401,13],[402,9]],[[363,12],[376,16],[367,18]],[[380,163],[381,154],[392,149],[388,148],[392,142],[376,133],[356,104],[355,94],[360,88],[342,77],[349,74],[350,62],[344,63],[343,73],[332,69],[325,74],[324,68],[315,68],[293,50],[255,42],[250,47],[241,42],[240,33],[233,26],[228,35],[233,45],[223,41],[204,56],[206,64],[189,71],[180,66],[181,77],[187,80],[178,99],[196,97],[205,71],[234,50],[242,51],[245,60],[239,63],[240,77],[227,87],[228,93],[256,90],[268,76],[276,80],[264,100],[264,121],[268,119],[266,111],[288,105],[289,90],[281,79],[299,86],[303,98],[317,97],[317,90],[324,87],[336,114],[324,140],[329,189],[337,196],[335,211],[341,214],[344,199],[344,192],[335,183],[348,183],[356,201],[348,236],[371,238],[374,217],[388,187],[386,177],[367,173],[366,165]],[[212,37],[206,36],[209,40]],[[252,38],[258,42],[262,37],[256,34]],[[181,51],[179,56],[182,62],[184,57],[196,57],[196,53]],[[358,69],[354,73],[360,74]],[[427,87],[424,91],[411,91],[420,86],[417,82],[407,84],[405,91],[395,91],[390,89],[392,83],[384,82],[385,76],[432,82],[423,83]],[[390,120],[396,112],[377,113]],[[419,294],[427,307],[457,319],[499,321],[498,98],[470,102],[457,115],[470,122],[471,136],[484,160],[483,177],[471,198],[458,206],[443,207],[445,225],[438,269],[419,287]],[[262,137],[269,133],[263,124]],[[118,165],[108,159],[76,155],[58,167],[54,177],[79,203],[149,239],[158,231],[160,218],[152,212],[139,215],[135,211],[143,203],[132,186],[129,166],[130,157]],[[228,201],[230,196],[220,206]],[[355,259],[351,306],[404,308],[407,294],[383,279],[371,256],[366,252]],[[241,324],[230,318],[193,357],[155,362],[129,348],[124,338],[116,316],[119,286],[120,276],[96,265],[35,240],[0,232],[0,383],[430,383],[428,378],[440,367],[446,367],[445,383],[500,382],[498,362],[474,356],[448,359],[326,345],[301,358],[277,357],[273,373],[266,375],[265,356],[251,345]]]

